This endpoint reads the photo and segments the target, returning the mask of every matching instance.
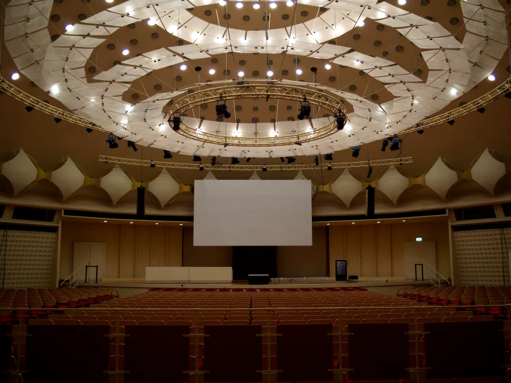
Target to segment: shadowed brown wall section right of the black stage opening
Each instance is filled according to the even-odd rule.
[[[277,246],[277,276],[327,277],[326,227],[313,227],[312,246]]]

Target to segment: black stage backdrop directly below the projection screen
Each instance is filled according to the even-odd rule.
[[[235,281],[248,279],[248,274],[270,274],[277,277],[276,246],[234,246],[232,274]]]

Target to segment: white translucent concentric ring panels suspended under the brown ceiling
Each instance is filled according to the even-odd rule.
[[[243,156],[250,152],[251,157],[268,157],[310,155],[318,151],[329,153],[355,144],[380,140],[382,135],[398,133],[443,109],[449,102],[484,80],[498,64],[507,44],[503,9],[495,0],[487,1],[484,6],[479,5],[476,0],[461,2],[467,25],[463,44],[440,24],[409,14],[386,2],[298,2],[330,9],[304,24],[269,30],[268,41],[261,31],[230,29],[229,33],[226,33],[225,28],[208,24],[185,10],[190,3],[201,6],[212,3],[209,0],[189,0],[189,3],[180,0],[129,0],[99,12],[81,24],[75,24],[73,30],[52,43],[48,32],[48,17],[53,1],[32,1],[29,5],[28,0],[13,0],[6,7],[6,46],[21,73],[45,91],[50,91],[52,97],[74,113],[138,144],[190,155],[219,153],[221,147],[216,144],[201,144],[169,129],[162,108],[171,98],[185,90],[154,95],[131,109],[131,106],[121,99],[131,82],[155,69],[187,59],[210,57],[230,50],[238,53],[281,53],[288,46],[292,46],[295,55],[327,59],[335,64],[359,68],[380,80],[387,90],[396,96],[392,102],[378,105],[353,93],[328,86],[279,80],[283,84],[315,86],[344,97],[353,105],[354,112],[348,115],[350,122],[343,131],[316,140],[313,144],[303,144],[301,147],[221,148],[223,156]],[[124,17],[121,17],[122,15]],[[160,19],[162,16],[165,17]],[[323,44],[348,32],[357,21],[360,23],[366,17],[396,28],[418,48],[422,48],[422,56],[429,69],[425,84],[389,60],[358,52],[346,53],[349,47]],[[105,82],[87,83],[84,66],[93,48],[104,41],[101,36],[149,18],[154,19],[160,28],[165,28],[193,44],[160,48],[140,57],[129,58],[95,77],[96,81]],[[182,23],[180,28],[178,20]],[[183,28],[183,25],[187,28]],[[89,37],[82,38],[82,35],[88,33]],[[115,82],[109,83],[112,81]],[[223,83],[225,82],[210,82],[207,85],[221,86]],[[194,87],[198,86],[205,84],[196,84]],[[193,125],[192,121],[189,123]],[[275,131],[279,136],[286,135],[286,132],[296,130],[299,123],[301,122],[277,122]],[[316,122],[313,124],[316,125]],[[223,129],[227,132],[234,132],[235,125],[203,122],[204,129]],[[257,127],[258,131],[262,128],[263,131],[273,134],[269,125],[257,124]],[[253,133],[256,131],[256,124],[240,124],[238,130],[243,132],[242,134]]]

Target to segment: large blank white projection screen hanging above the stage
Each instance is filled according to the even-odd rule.
[[[311,246],[309,180],[196,180],[194,246]]]

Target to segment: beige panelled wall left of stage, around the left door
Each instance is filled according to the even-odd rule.
[[[59,275],[66,278],[74,271],[75,242],[106,243],[105,278],[145,278],[146,266],[180,266],[182,230],[63,221]]]

